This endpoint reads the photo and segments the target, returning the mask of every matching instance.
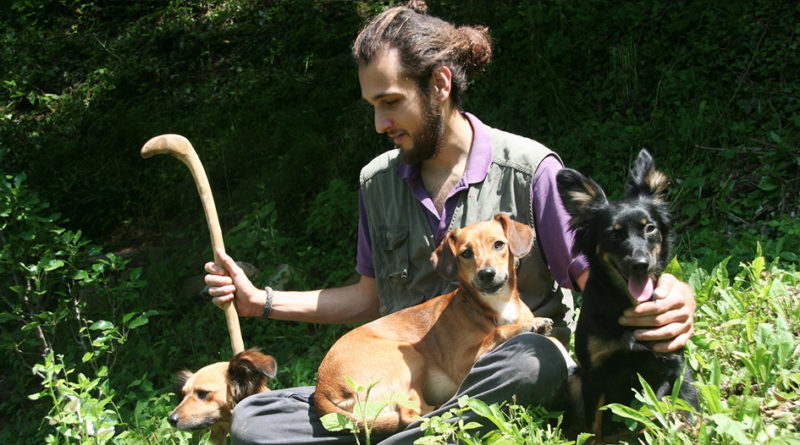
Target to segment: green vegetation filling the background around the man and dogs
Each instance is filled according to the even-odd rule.
[[[194,185],[180,163],[139,157],[152,136],[192,141],[227,250],[257,283],[280,264],[289,288],[351,279],[358,171],[390,146],[349,45],[396,3],[0,3],[0,441],[199,440],[166,423],[172,376],[227,360],[229,343],[199,295],[211,252]],[[491,31],[468,111],[616,193],[641,148],[673,178],[678,259],[701,304],[691,361],[717,391],[713,434],[692,440],[796,440],[800,6],[428,5]],[[313,384],[347,327],[242,328],[285,387]]]

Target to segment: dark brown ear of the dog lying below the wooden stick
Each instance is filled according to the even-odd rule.
[[[228,389],[231,398],[239,402],[247,396],[260,392],[266,378],[275,378],[278,364],[271,355],[258,349],[248,349],[236,354],[228,362]]]

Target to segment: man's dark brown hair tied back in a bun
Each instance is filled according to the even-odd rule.
[[[417,9],[425,8],[416,2]],[[460,26],[398,6],[378,14],[358,34],[353,43],[353,57],[359,65],[372,61],[383,48],[397,48],[404,74],[428,94],[433,72],[446,66],[452,72],[450,96],[461,108],[461,94],[469,85],[468,77],[482,71],[492,59],[489,30],[483,26]]]

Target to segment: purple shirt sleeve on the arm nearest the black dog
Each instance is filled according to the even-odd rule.
[[[570,216],[561,202],[556,174],[564,168],[556,156],[546,157],[533,175],[531,199],[539,245],[547,267],[561,287],[579,291],[578,277],[589,268],[586,257],[574,256],[575,235],[569,228]]]

